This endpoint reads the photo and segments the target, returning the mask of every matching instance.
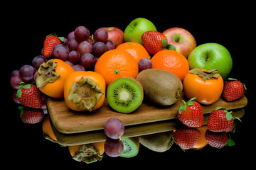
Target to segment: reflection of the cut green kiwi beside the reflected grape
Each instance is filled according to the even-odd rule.
[[[131,158],[135,157],[139,152],[139,137],[123,138],[124,151],[120,157]]]

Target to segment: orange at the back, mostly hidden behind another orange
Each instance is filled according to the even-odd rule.
[[[150,55],[149,52],[146,51],[145,47],[137,42],[125,42],[121,45],[118,45],[117,50],[125,50],[129,52],[132,57],[136,60],[136,62],[139,62],[142,58],[149,58]]]

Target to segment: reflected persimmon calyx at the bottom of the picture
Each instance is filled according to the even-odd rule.
[[[74,155],[73,159],[78,162],[85,162],[90,164],[92,162],[97,162],[102,160],[103,155],[93,147],[92,144],[81,145],[80,150]]]

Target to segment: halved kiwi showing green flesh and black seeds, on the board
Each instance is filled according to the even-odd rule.
[[[107,102],[114,111],[131,113],[143,101],[142,84],[130,77],[120,77],[107,87]]]

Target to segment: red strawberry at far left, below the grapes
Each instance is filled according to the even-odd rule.
[[[23,106],[28,106],[31,108],[41,108],[43,105],[42,98],[40,91],[34,84],[26,84],[21,82],[18,86],[20,86],[20,89],[18,89],[16,96],[18,98],[18,101]]]

